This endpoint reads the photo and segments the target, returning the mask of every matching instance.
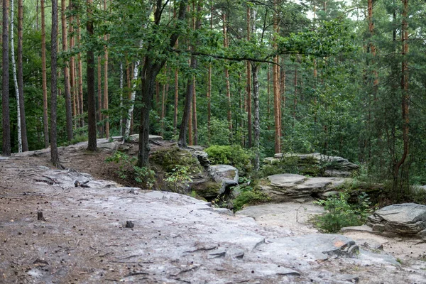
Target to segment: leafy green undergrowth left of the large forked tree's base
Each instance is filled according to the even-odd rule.
[[[106,162],[119,164],[119,178],[132,180],[141,183],[144,187],[151,190],[155,184],[155,172],[146,167],[138,167],[136,165],[137,159],[130,157],[126,153],[117,151],[111,157],[105,159]]]

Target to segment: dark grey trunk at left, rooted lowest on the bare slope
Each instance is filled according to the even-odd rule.
[[[50,38],[50,69],[51,69],[51,84],[50,84],[50,161],[55,166],[59,164],[58,153],[58,137],[56,126],[56,109],[57,109],[57,96],[58,96],[58,82],[56,80],[57,74],[57,53],[58,53],[58,0],[52,0],[52,34]]]

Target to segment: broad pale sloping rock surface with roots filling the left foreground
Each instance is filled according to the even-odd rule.
[[[288,236],[286,228],[272,230],[250,217],[219,214],[224,212],[192,197],[129,190],[75,170],[48,170],[26,159],[0,160],[0,282],[425,279],[425,271],[400,269],[391,256],[357,252],[357,244],[345,236]],[[76,180],[88,187],[75,187]],[[36,220],[36,211],[43,212],[46,222]],[[125,228],[128,221],[133,228]]]

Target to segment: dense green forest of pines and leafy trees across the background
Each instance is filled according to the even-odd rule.
[[[2,0],[2,153],[139,134],[425,185],[420,0]],[[58,163],[58,157],[52,158]]]

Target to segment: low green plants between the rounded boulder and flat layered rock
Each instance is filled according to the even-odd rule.
[[[234,212],[243,209],[246,204],[258,204],[270,200],[251,180],[246,178],[240,178],[239,185],[234,187],[233,190],[239,192],[234,200]]]

